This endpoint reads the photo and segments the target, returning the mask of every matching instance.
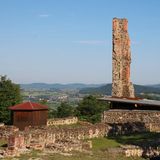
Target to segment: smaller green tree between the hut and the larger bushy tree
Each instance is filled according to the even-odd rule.
[[[66,102],[62,102],[61,105],[57,108],[57,117],[69,117],[74,116],[75,109]]]

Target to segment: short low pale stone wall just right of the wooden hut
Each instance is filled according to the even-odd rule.
[[[47,120],[47,126],[70,125],[70,124],[76,124],[77,122],[78,122],[77,117],[54,118]]]

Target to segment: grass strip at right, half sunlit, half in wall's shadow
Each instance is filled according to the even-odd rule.
[[[138,145],[138,146],[151,146],[160,145],[160,133],[145,132],[125,136],[115,136],[106,138],[94,138],[92,140],[93,150],[115,148],[120,145]]]

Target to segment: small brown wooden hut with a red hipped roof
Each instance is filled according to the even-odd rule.
[[[47,124],[48,107],[42,104],[25,102],[9,107],[14,126],[23,130],[26,126]]]

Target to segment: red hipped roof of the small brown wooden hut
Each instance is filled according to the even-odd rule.
[[[17,104],[15,106],[9,107],[10,110],[46,110],[47,106],[42,104],[33,103],[33,102],[25,102],[21,104]]]

